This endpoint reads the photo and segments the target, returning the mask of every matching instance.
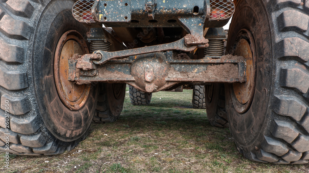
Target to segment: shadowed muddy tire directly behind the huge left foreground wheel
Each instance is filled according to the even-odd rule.
[[[100,83],[100,94],[93,121],[112,123],[120,117],[125,100],[126,84]]]

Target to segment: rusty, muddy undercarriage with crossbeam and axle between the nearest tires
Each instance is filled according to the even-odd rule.
[[[222,26],[234,10],[229,0],[77,1],[73,15],[91,27],[93,53],[70,58],[68,79],[125,82],[148,93],[184,83],[245,82],[246,59],[223,57]],[[97,27],[102,24],[113,30]]]

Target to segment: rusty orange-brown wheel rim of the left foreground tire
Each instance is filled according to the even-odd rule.
[[[61,36],[57,44],[54,78],[62,103],[71,110],[78,110],[86,103],[91,85],[78,85],[68,80],[68,61],[73,54],[89,54],[89,51],[83,36],[75,30],[70,30]]]

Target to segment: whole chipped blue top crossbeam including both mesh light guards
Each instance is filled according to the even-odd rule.
[[[80,22],[101,22],[113,28],[179,27],[179,18],[196,17],[203,18],[206,27],[222,27],[234,10],[232,0],[79,0],[74,4],[72,12]]]

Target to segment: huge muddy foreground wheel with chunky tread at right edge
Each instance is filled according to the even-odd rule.
[[[250,160],[309,162],[308,7],[238,1],[227,51],[247,58],[247,82],[226,85],[226,109],[237,149]]]

